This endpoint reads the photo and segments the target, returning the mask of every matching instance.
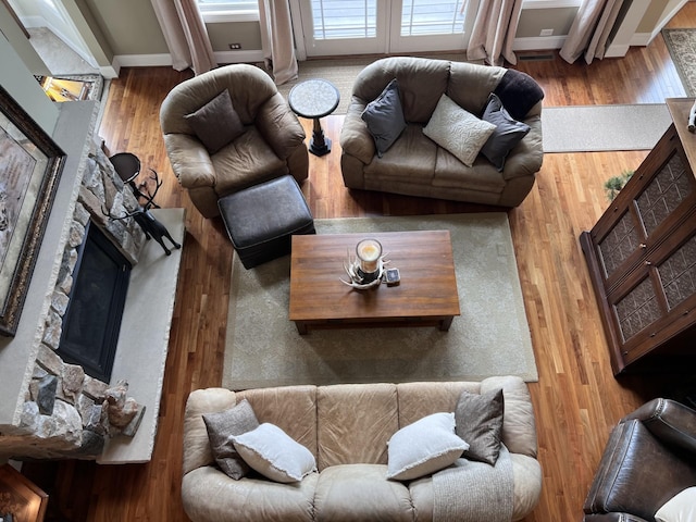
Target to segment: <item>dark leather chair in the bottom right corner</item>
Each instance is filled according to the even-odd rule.
[[[696,411],[654,399],[611,432],[584,520],[652,522],[664,502],[691,486],[696,486]]]

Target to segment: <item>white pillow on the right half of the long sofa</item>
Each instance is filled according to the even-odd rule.
[[[387,478],[410,481],[452,464],[469,445],[455,434],[455,413],[433,413],[387,443]]]

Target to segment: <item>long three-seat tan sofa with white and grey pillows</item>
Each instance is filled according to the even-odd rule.
[[[425,415],[455,411],[463,390],[484,394],[496,389],[502,389],[505,398],[501,440],[509,450],[513,476],[510,520],[520,520],[538,501],[542,471],[529,390],[522,380],[512,376],[480,383],[195,390],[186,405],[184,427],[182,496],[186,513],[194,521],[432,521],[436,509],[433,475],[386,480],[387,440]],[[259,422],[277,425],[308,448],[319,471],[291,484],[260,475],[234,480],[224,474],[214,463],[202,415],[229,409],[243,399],[249,401]],[[467,490],[461,496],[460,508],[468,509],[470,495]],[[497,500],[487,498],[483,505],[490,502]]]

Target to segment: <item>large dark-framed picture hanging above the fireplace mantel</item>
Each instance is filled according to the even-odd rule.
[[[14,336],[64,152],[0,86],[0,334]]]

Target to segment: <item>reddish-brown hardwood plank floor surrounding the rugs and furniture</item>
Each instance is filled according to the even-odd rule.
[[[696,27],[688,3],[670,27]],[[684,90],[661,36],[624,59],[570,65],[521,60],[547,105],[662,102]],[[186,239],[152,461],[96,465],[63,462],[47,471],[53,520],[184,521],[181,502],[183,412],[190,390],[221,383],[232,247],[220,220],[203,220],[174,178],[158,121],[172,86],[189,77],[166,69],[123,70],[111,85],[100,135],[112,151],[138,154],[164,178],[163,207],[186,209]],[[343,117],[324,129],[334,150],[311,157],[303,191],[315,217],[490,210],[395,195],[348,191],[340,177]],[[310,123],[304,122],[308,133]],[[670,393],[670,378],[614,378],[595,296],[579,244],[607,207],[604,182],[634,169],[647,151],[546,154],[510,224],[539,381],[531,383],[544,489],[527,522],[580,521],[582,504],[611,427],[644,401]],[[29,467],[32,468],[32,467]],[[36,468],[36,467],[35,467]],[[40,471],[37,480],[41,477]]]

